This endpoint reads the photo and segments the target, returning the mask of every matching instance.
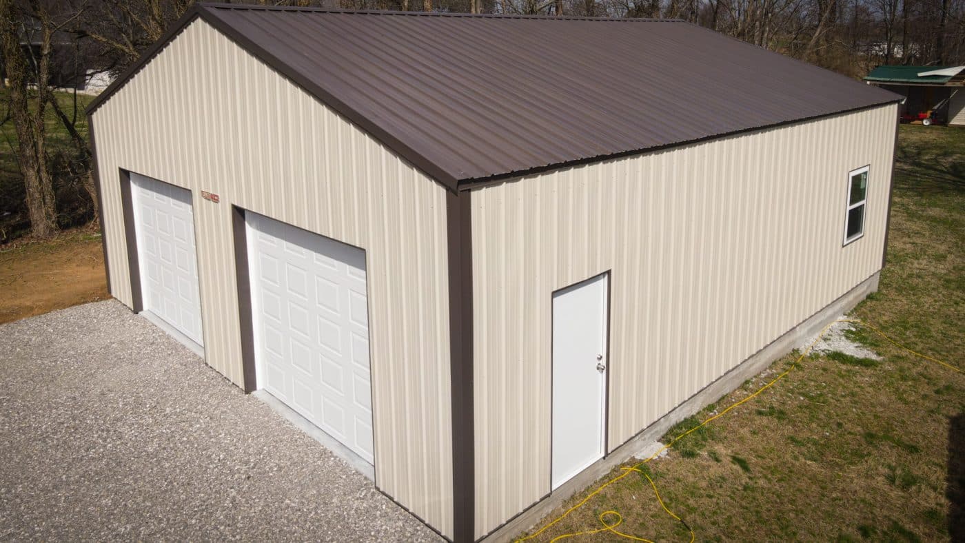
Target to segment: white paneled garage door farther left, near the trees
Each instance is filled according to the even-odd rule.
[[[130,183],[144,310],[203,345],[191,192],[133,173]]]

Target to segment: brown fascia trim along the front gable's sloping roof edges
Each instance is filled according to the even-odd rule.
[[[229,7],[234,8],[235,6],[229,5]],[[352,122],[359,126],[363,131],[368,132],[374,139],[378,140],[384,144],[389,149],[400,155],[401,158],[415,166],[416,168],[422,170],[427,174],[427,176],[435,179],[439,184],[443,185],[450,191],[456,191],[456,184],[458,179],[452,176],[442,168],[439,168],[435,163],[428,160],[425,156],[417,152],[415,149],[410,148],[408,145],[403,143],[399,138],[393,136],[388,131],[384,130],[382,127],[378,126],[376,123],[372,122],[368,117],[355,111],[353,108],[349,107],[342,100],[332,95],[320,86],[312,83],[308,78],[301,75],[297,70],[291,68],[284,61],[276,57],[275,55],[264,50],[261,46],[248,40],[244,34],[238,32],[231,25],[225,23],[221,20],[217,14],[212,10],[208,9],[204,4],[197,4],[187,13],[185,13],[181,18],[178,19],[176,23],[171,25],[171,28],[161,37],[160,40],[155,42],[145,53],[137,60],[130,68],[124,70],[117,80],[115,80],[103,93],[98,95],[94,101],[88,105],[87,116],[91,119],[97,108],[106,102],[111,95],[114,95],[118,90],[124,87],[124,84],[138,71],[145,67],[152,59],[157,56],[158,53],[167,45],[170,41],[174,40],[187,25],[192,22],[196,17],[200,17],[202,20],[214,27],[218,32],[221,32],[228,37],[231,41],[237,43],[239,47],[245,51],[251,53],[256,58],[261,60],[264,64],[268,65],[270,68],[276,69],[287,77],[292,83],[301,87],[309,95],[315,96],[318,100],[323,102],[325,105],[331,107],[340,115],[345,117],[349,122]]]

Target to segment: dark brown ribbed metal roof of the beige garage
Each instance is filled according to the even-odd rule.
[[[194,14],[452,187],[900,99],[681,21]]]

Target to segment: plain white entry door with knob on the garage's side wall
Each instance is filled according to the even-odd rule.
[[[553,294],[553,489],[603,456],[606,275]]]

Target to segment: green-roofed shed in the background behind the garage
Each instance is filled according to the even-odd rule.
[[[869,84],[905,96],[900,113],[930,110],[941,122],[965,124],[965,66],[879,66],[865,78]]]

